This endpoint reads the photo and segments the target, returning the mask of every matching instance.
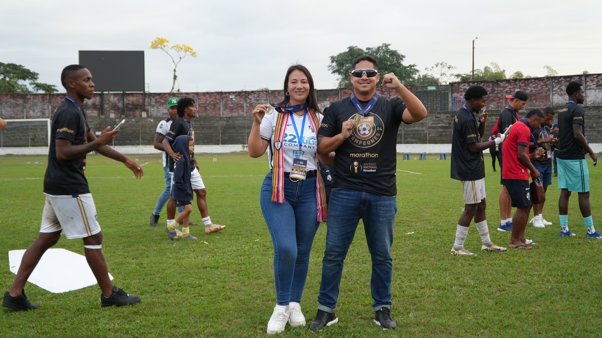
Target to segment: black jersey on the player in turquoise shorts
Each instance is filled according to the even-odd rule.
[[[573,124],[582,124],[585,135],[585,116],[583,108],[574,102],[566,102],[558,111],[558,158],[585,159],[585,150],[575,141]]]

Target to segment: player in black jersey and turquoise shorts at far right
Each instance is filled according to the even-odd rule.
[[[566,85],[568,102],[558,111],[558,128],[560,145],[558,147],[558,189],[560,198],[560,237],[575,236],[568,230],[568,199],[571,192],[579,194],[579,209],[587,233],[585,238],[602,239],[602,234],[594,229],[592,209],[589,204],[589,169],[585,161],[585,153],[598,163],[594,150],[589,147],[583,135],[585,130],[585,114],[579,105],[585,101],[585,91],[579,82]]]

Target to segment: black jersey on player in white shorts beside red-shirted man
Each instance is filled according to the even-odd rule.
[[[452,179],[473,181],[485,177],[483,152],[473,153],[468,148],[468,144],[480,142],[479,136],[474,114],[464,108],[456,112],[452,135]]]

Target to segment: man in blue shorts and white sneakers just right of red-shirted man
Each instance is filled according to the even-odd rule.
[[[533,131],[533,136],[539,147],[544,150],[544,155],[540,158],[531,160],[533,167],[539,170],[539,179],[544,185],[544,194],[548,191],[548,185],[552,184],[552,150],[551,147],[556,142],[556,139],[551,135],[550,128],[548,125],[554,119],[554,109],[551,107],[545,107],[544,112],[544,123],[541,124],[539,129]],[[535,147],[535,144],[529,143],[529,146]],[[533,204],[533,218],[529,223],[533,223],[536,228],[545,228],[545,226],[551,226],[552,223],[545,220],[542,215],[544,210],[544,203]]]

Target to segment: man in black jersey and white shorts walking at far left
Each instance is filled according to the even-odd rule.
[[[123,306],[140,303],[140,297],[129,295],[111,283],[107,263],[102,254],[102,232],[96,221],[96,207],[85,179],[85,155],[96,150],[101,155],[122,162],[134,171],[136,178],[142,168],[107,144],[119,129],[107,127],[98,138],[94,135],[81,109],[84,99],[92,99],[94,83],[90,71],[79,65],[67,66],[61,73],[61,83],[67,90],[52,118],[48,168],[44,176],[46,204],[42,214],[40,235],[23,254],[21,265],[10,290],[4,293],[2,306],[17,311],[37,309],[29,303],[23,287],[42,255],[55,245],[64,233],[67,239],[82,238],[85,258],[101,288],[101,306]]]

